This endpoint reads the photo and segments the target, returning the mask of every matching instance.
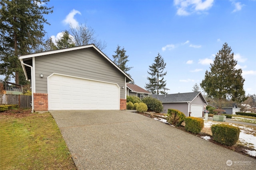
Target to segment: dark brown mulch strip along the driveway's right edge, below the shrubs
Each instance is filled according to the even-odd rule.
[[[153,114],[146,114],[146,113],[139,113],[139,112],[136,112],[136,113],[141,114],[141,115],[144,115],[144,116],[147,116],[147,117],[150,117],[150,118],[152,118],[152,119],[154,119],[154,118],[156,117],[156,116],[154,116]],[[180,129],[180,130],[182,130],[182,131],[185,131],[185,132],[187,132],[187,133],[190,133],[190,134],[192,134],[192,135],[195,135],[195,136],[197,136],[197,137],[209,136],[210,139],[209,139],[208,141],[210,141],[211,143],[214,143],[214,144],[219,145],[219,146],[221,146],[221,147],[224,147],[224,148],[226,148],[226,149],[233,150],[233,151],[238,152],[238,153],[240,153],[240,154],[243,154],[243,155],[245,155],[245,156],[250,156],[250,155],[246,154],[245,149],[247,149],[247,150],[252,150],[251,148],[246,147],[246,146],[243,146],[243,145],[237,145],[237,144],[235,144],[235,145],[230,146],[230,147],[228,147],[228,146],[226,146],[226,145],[222,145],[222,144],[220,144],[220,143],[214,141],[214,140],[213,140],[213,137],[212,137],[211,135],[209,135],[209,134],[207,134],[207,133],[198,133],[198,134],[194,134],[194,133],[188,132],[188,131],[186,131],[186,129],[185,129],[184,126],[178,126],[178,127],[175,126],[175,128]],[[256,158],[256,156],[250,156],[250,157]]]

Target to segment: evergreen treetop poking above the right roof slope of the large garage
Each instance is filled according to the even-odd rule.
[[[128,60],[128,55],[126,55],[126,50],[124,50],[124,47],[121,49],[121,47],[119,45],[117,45],[116,51],[115,51],[116,55],[112,55],[112,57],[114,58],[114,63],[121,68],[121,70],[123,70],[126,74],[128,74],[128,76],[130,76],[130,74],[128,73],[128,71],[132,68],[132,67],[128,67],[126,65],[126,63],[129,61]],[[130,76],[131,77],[131,76]]]

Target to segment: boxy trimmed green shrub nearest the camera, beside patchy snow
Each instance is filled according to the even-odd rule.
[[[235,126],[218,124],[212,125],[212,137],[214,141],[226,146],[236,144],[239,138],[240,129]]]

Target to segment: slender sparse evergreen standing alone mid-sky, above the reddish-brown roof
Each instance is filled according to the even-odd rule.
[[[149,83],[146,83],[145,88],[152,94],[167,94],[166,91],[170,89],[166,88],[166,80],[164,80],[164,76],[167,74],[167,71],[164,72],[166,63],[164,63],[164,59],[159,53],[155,57],[154,62],[149,66],[150,72],[148,74],[151,77],[147,77]]]

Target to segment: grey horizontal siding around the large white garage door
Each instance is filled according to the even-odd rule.
[[[47,77],[52,73],[101,80],[125,86],[124,75],[94,49],[35,57],[36,93],[47,93]],[[44,74],[40,78],[40,74]],[[120,98],[125,89],[120,88]]]

